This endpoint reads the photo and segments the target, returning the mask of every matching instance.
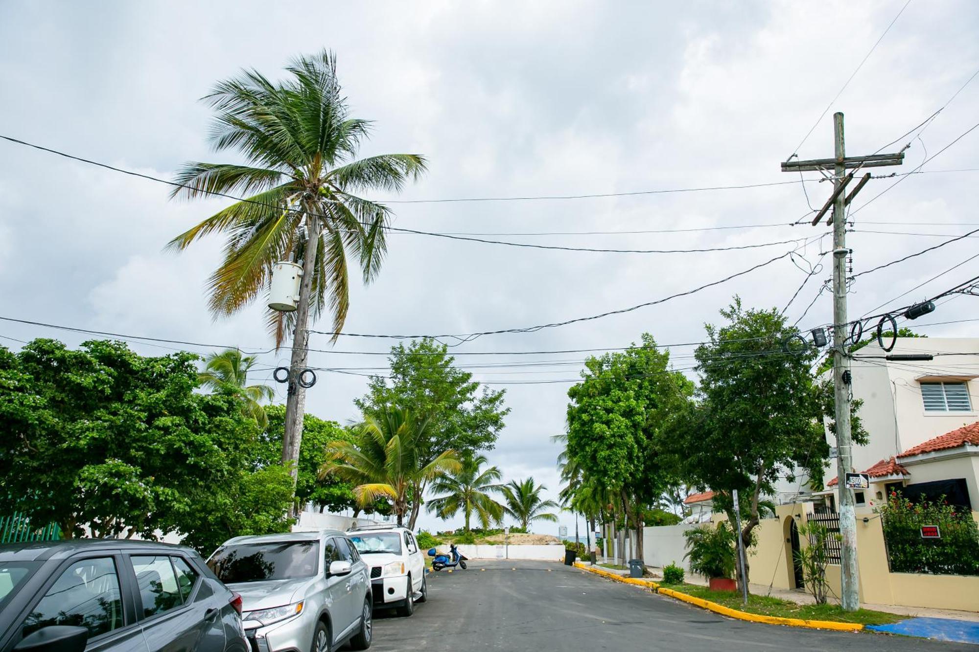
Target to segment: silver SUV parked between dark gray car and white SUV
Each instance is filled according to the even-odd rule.
[[[344,533],[236,536],[208,566],[241,594],[254,652],[370,647],[368,568]]]

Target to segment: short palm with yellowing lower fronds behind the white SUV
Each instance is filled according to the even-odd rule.
[[[352,483],[361,507],[374,504],[378,498],[389,498],[397,525],[403,525],[414,488],[461,468],[453,450],[422,465],[419,444],[428,425],[427,418],[416,419],[407,410],[386,409],[377,416],[367,415],[355,428],[355,442],[327,445],[327,461],[320,467],[319,477],[322,480],[334,475]]]

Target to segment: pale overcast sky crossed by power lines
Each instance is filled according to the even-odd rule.
[[[830,238],[809,220],[792,223],[825,202],[829,184],[819,183],[816,172],[797,183],[800,176],[781,172],[779,163],[793,154],[831,157],[833,112],[845,113],[848,155],[871,154],[896,139],[882,151],[909,143],[902,167],[875,174],[908,172],[935,157],[920,168],[924,173],[871,180],[854,200],[848,247],[855,272],[979,227],[973,202],[979,172],[970,169],[979,168],[979,129],[942,151],[979,119],[979,78],[962,88],[979,70],[979,4],[912,0],[862,63],[905,5],[5,2],[0,133],[171,178],[181,163],[234,156],[211,152],[207,141],[211,115],[199,98],[215,81],[244,68],[276,77],[293,57],[326,48],[337,54],[351,114],[375,120],[361,154],[418,153],[430,162],[400,196],[374,199],[780,184],[391,203],[399,227],[506,234],[474,237],[519,243],[689,250],[796,241],[613,254],[391,234],[380,277],[351,290],[347,332],[466,334],[564,321],[653,302],[794,251],[791,259],[666,303],[452,348],[460,365],[555,363],[470,368],[476,380],[505,388],[512,409],[490,463],[506,480],[533,476],[553,495],[559,450],[551,436],[563,431],[567,390],[585,353],[471,353],[621,348],[643,332],[660,344],[699,342],[704,324],[718,323],[719,308],[733,295],[781,309],[816,265],[821,269],[787,314],[801,328],[826,324],[830,294],[816,295],[830,277],[831,256],[820,256]],[[0,316],[269,351],[261,305],[217,321],[207,310],[205,282],[218,261],[219,238],[180,255],[163,251],[170,238],[223,205],[171,202],[162,184],[0,141]],[[689,230],[703,228],[714,230]],[[965,238],[861,276],[851,288],[851,315],[879,311],[878,304],[918,284],[924,283],[892,305],[924,300],[979,274],[979,260],[965,262],[975,242]],[[940,304],[920,320],[920,332],[974,337],[973,302],[956,296]],[[956,323],[939,323],[949,321]],[[318,325],[329,328],[326,320]],[[35,337],[71,346],[86,339],[0,321],[4,346],[18,349]],[[312,352],[310,365],[383,367],[382,355],[339,351],[384,352],[390,344],[342,337],[331,346],[327,336],[313,335],[310,347],[330,352]],[[170,350],[131,346],[145,354]],[[692,350],[671,348],[674,366],[691,376]],[[288,363],[288,351],[262,353],[259,363],[265,369]],[[270,372],[254,380],[272,382]],[[366,383],[322,373],[307,408],[354,421],[352,401]],[[276,401],[284,402],[283,386],[276,389]],[[458,523],[426,514],[420,526]],[[570,515],[561,524],[574,534]],[[540,523],[535,531],[556,534],[557,527]]]

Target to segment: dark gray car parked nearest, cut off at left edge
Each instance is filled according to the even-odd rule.
[[[119,539],[0,545],[0,652],[248,652],[241,596],[190,548]]]

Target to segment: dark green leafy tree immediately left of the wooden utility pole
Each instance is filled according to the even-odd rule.
[[[794,347],[797,330],[776,309],[745,309],[735,297],[726,323],[706,326],[695,356],[699,404],[679,415],[669,438],[687,480],[718,491],[715,504],[734,523],[732,489],[742,505],[745,549],[779,474],[802,467],[821,476],[828,450],[811,365],[816,351]]]

